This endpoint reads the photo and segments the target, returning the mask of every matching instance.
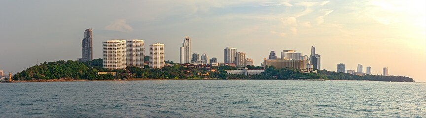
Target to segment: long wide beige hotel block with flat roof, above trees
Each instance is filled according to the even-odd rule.
[[[264,68],[268,66],[274,66],[276,69],[290,67],[302,71],[306,70],[307,60],[284,60],[284,59],[263,59]]]

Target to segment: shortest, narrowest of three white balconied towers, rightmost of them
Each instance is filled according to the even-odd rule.
[[[154,43],[149,45],[149,68],[162,68],[164,62],[164,44]]]

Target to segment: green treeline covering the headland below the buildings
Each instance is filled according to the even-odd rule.
[[[149,59],[145,57],[145,59]],[[165,61],[173,64],[173,61]],[[259,66],[247,66],[249,69],[262,69]],[[109,70],[102,67],[102,59],[94,59],[87,62],[64,61],[44,62],[30,67],[13,76],[17,80],[41,80],[41,79],[88,79],[88,80],[112,80],[123,78],[149,78],[149,79],[326,79],[326,80],[370,80],[392,82],[414,82],[413,79],[402,76],[366,75],[358,76],[348,73],[336,73],[327,70],[317,70],[318,73],[300,72],[293,68],[276,69],[267,67],[263,75],[235,75],[227,74],[224,70],[236,70],[232,66],[219,66],[212,68],[188,68],[180,65],[165,66],[161,69],[127,67],[127,70]],[[215,70],[215,71],[212,71]],[[98,75],[97,72],[117,72],[116,76],[110,74]]]

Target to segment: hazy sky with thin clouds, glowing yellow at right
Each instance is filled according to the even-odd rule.
[[[315,46],[321,69],[362,64],[376,75],[389,67],[426,82],[425,0],[0,0],[0,11],[5,73],[81,58],[83,31],[92,28],[94,59],[104,40],[142,39],[165,44],[165,59],[179,62],[189,36],[192,53],[219,62],[225,47],[260,65],[270,51],[310,55]]]

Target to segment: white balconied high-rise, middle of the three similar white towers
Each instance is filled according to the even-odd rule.
[[[143,40],[133,39],[126,42],[127,66],[143,68],[143,56],[145,52]]]

